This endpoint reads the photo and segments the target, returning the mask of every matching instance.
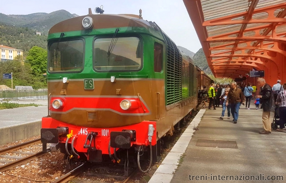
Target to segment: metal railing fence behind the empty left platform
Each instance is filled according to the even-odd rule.
[[[2,100],[19,100],[19,101],[37,101],[47,100],[48,91],[0,91],[0,99]]]

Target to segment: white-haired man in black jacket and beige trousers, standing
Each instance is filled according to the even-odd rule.
[[[260,95],[257,95],[256,98],[260,98],[263,108],[262,112],[262,123],[264,130],[259,131],[260,134],[269,134],[271,133],[271,122],[270,122],[270,111],[274,107],[274,98],[272,93],[272,88],[269,84],[265,82],[265,79],[258,78],[257,84],[261,87]]]

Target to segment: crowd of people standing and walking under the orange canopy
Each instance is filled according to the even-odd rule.
[[[209,89],[202,86],[203,108],[216,110],[216,107],[222,107],[220,119],[224,119],[225,110],[227,110],[227,119],[230,114],[233,117],[233,123],[237,123],[239,117],[239,109],[245,105],[245,109],[250,109],[250,103],[254,100],[256,110],[262,109],[263,130],[260,134],[271,133],[270,112],[279,108],[279,128],[277,131],[283,131],[286,123],[286,83],[281,84],[281,80],[277,80],[277,84],[273,87],[266,83],[265,79],[258,78],[257,85],[247,83],[247,85],[237,85],[231,82],[227,85],[211,83]],[[258,92],[257,92],[258,91]],[[244,104],[245,102],[245,104]],[[276,105],[276,108],[275,108]]]

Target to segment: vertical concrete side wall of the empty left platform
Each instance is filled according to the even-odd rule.
[[[0,129],[0,145],[40,135],[42,123],[35,121]]]

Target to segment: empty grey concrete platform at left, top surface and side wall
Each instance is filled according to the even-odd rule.
[[[40,135],[41,119],[48,113],[47,100],[11,102],[43,106],[0,110],[0,145]]]

